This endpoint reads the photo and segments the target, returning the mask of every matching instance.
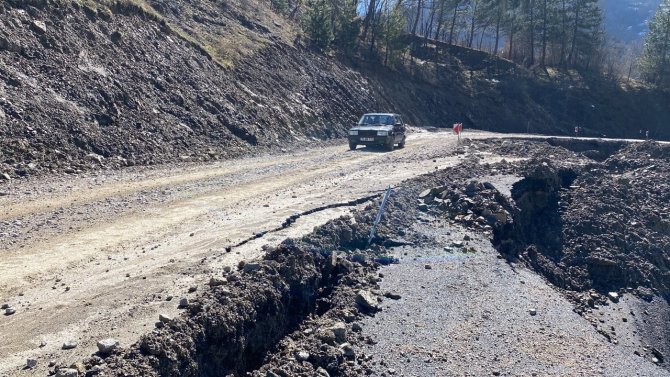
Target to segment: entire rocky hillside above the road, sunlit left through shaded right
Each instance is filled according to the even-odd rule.
[[[554,133],[575,122],[604,133],[637,114],[656,117],[645,123],[660,135],[665,123],[647,110],[670,119],[667,95],[626,99],[625,117],[612,118],[591,106],[611,91],[580,83],[573,94],[463,49],[450,64],[413,59],[394,71],[312,52],[298,36],[264,1],[4,1],[0,180],[286,148],[342,137],[373,110],[419,126]]]

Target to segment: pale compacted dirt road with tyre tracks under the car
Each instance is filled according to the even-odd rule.
[[[393,153],[343,145],[206,165],[15,181],[0,191],[0,375],[39,375],[95,351],[97,340],[134,342],[159,313],[176,315],[224,266],[260,255],[346,213],[342,206],[389,184],[454,165],[455,140],[418,133]],[[260,233],[260,234],[259,234]],[[61,350],[64,342],[78,343]],[[19,370],[26,358],[39,367]]]

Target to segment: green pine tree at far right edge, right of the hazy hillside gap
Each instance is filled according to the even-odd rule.
[[[649,22],[640,71],[644,80],[670,88],[670,0],[663,0]]]

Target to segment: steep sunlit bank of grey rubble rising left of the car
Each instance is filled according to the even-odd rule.
[[[343,136],[357,114],[377,107],[361,75],[294,48],[279,22],[262,26],[209,6],[220,10],[215,19],[191,20],[223,25],[230,40],[253,40],[255,49],[240,42],[234,49],[244,56],[227,60],[130,2],[0,5],[0,173],[234,156]]]

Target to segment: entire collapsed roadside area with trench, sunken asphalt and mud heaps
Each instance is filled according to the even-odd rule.
[[[211,277],[184,315],[71,367],[118,376],[668,375],[667,147],[622,146],[599,162],[513,143],[469,141],[470,163],[404,182],[370,249],[361,250],[378,203]],[[509,161],[478,162],[510,148]],[[634,201],[624,186],[637,189]],[[617,228],[617,216],[634,231]]]

